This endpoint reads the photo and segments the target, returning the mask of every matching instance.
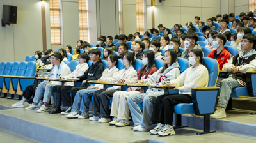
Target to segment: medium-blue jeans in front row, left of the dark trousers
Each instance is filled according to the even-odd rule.
[[[77,91],[71,111],[77,113],[81,111],[82,114],[87,114],[89,112],[91,97],[97,90],[98,89],[83,89]]]

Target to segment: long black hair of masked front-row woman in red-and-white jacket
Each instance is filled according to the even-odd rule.
[[[150,72],[150,70],[152,70],[152,68],[154,67],[157,68],[155,63],[155,54],[152,50],[147,50],[143,53],[143,55],[148,58],[148,69],[147,69],[147,72],[145,73],[145,75],[148,75],[148,73]],[[146,68],[147,68],[147,65],[141,68],[139,73],[139,79],[141,79],[141,76]]]

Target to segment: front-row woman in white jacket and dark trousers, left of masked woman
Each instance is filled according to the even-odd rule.
[[[134,70],[132,66],[134,61],[134,53],[127,52],[123,59],[123,64],[126,67],[120,70],[119,72],[116,72],[116,74],[113,75],[113,77],[104,77],[102,79],[99,79],[98,81],[110,83],[117,82],[121,84],[135,84],[136,82],[138,82],[138,77],[136,77],[136,70]],[[109,100],[112,99],[113,94],[116,91],[120,91],[120,86],[113,86],[106,89],[106,91],[95,91],[93,93],[93,103],[95,102],[94,105],[98,105],[95,106],[94,109],[98,111],[100,110],[100,119],[98,121],[99,123],[108,123],[109,121],[111,121]]]

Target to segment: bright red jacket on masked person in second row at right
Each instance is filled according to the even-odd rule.
[[[213,58],[214,57],[214,52],[216,50],[212,50],[211,52],[209,52],[208,57]],[[231,55],[231,56],[230,56]],[[222,50],[220,56],[217,58],[217,61],[219,63],[219,70],[222,70],[223,65],[225,63],[228,63],[228,59],[230,59],[230,57],[232,57],[232,54],[230,54],[230,52],[228,52],[225,48]]]

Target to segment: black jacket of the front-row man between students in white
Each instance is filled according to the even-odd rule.
[[[95,64],[92,63],[92,65],[84,72],[84,75],[77,77],[80,80],[98,80],[102,76],[104,70],[103,63],[101,59],[97,61]],[[89,84],[86,82],[85,84],[81,84],[81,87],[88,87]]]

